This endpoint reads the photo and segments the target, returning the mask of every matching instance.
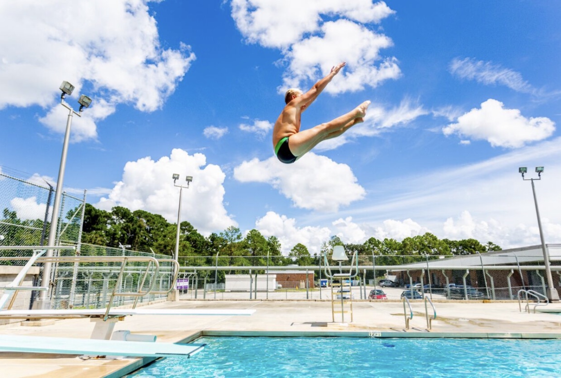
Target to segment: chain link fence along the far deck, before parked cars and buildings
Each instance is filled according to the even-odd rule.
[[[537,252],[467,256],[359,255],[353,266],[356,276],[352,278],[351,295],[353,299],[366,301],[401,300],[403,296],[408,299],[429,296],[433,301],[517,300],[520,290],[533,290],[545,296],[548,279],[540,259],[541,250]],[[331,300],[338,295],[330,288],[324,261],[317,265],[283,266],[275,265],[281,260],[277,256],[218,255],[182,259],[178,279],[181,299]],[[212,265],[200,264],[209,261]],[[243,261],[245,265],[231,265],[236,261]],[[331,264],[330,270],[338,273],[339,266],[330,261]],[[342,271],[347,272],[349,268],[343,265]],[[553,287],[561,287],[561,265],[551,265],[550,269]],[[383,299],[379,295],[371,296],[372,291],[380,289]]]

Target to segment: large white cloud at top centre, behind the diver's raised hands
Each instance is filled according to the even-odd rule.
[[[342,61],[347,67],[326,91],[357,91],[397,79],[396,59],[379,54],[392,40],[366,26],[393,13],[384,2],[371,0],[232,1],[232,17],[247,42],[284,54],[288,69],[279,93],[318,80]]]

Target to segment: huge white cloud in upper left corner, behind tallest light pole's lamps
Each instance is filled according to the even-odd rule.
[[[4,3],[0,6],[0,109],[38,104],[49,109],[40,121],[61,132],[66,110],[57,104],[58,87],[68,80],[76,86],[68,103],[77,107],[82,90],[94,100],[83,118],[74,118],[73,140],[80,141],[95,139],[95,122],[112,114],[118,104],[132,104],[144,112],[162,107],[195,55],[185,44],[178,49],[160,47],[148,3]]]

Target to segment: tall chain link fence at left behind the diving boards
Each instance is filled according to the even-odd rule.
[[[24,181],[0,173],[0,248],[12,246],[0,250],[0,286],[11,283],[40,246],[48,244],[53,202],[54,188],[47,182],[43,186],[39,181]],[[81,199],[62,193],[54,243],[61,247],[53,250],[52,262],[40,257],[21,285],[38,287],[42,283],[43,264],[52,264],[46,298],[53,309],[104,308],[165,298],[173,273],[169,257],[82,244],[84,210],[85,192]],[[37,248],[34,251],[29,246]],[[0,289],[2,294],[4,290]],[[112,294],[116,296],[109,303]],[[4,303],[4,309],[9,306],[12,310],[29,310],[41,295],[38,290],[19,291]],[[15,321],[0,320],[0,324]]]

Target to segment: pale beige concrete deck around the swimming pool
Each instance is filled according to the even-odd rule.
[[[330,301],[177,301],[161,302],[142,308],[239,308],[256,310],[251,316],[127,316],[115,330],[157,335],[157,342],[180,342],[202,334],[221,335],[347,335],[347,336],[451,336],[561,338],[561,316],[545,312],[520,312],[517,301],[436,302],[437,317],[430,333],[426,328],[425,305],[411,301],[413,319],[404,332],[401,301],[354,301],[353,321],[335,314],[332,322]],[[533,306],[531,306],[533,308]],[[540,307],[538,307],[540,308]],[[544,308],[544,307],[541,307]],[[561,313],[561,303],[545,307]],[[409,314],[409,312],[408,312]],[[429,315],[433,311],[429,305]],[[90,338],[94,323],[89,319],[66,319],[44,326],[2,326],[1,335],[33,335]],[[81,359],[75,355],[0,352],[2,377],[117,377],[127,366],[140,367],[151,361],[142,358]],[[130,370],[128,368],[127,370]]]

